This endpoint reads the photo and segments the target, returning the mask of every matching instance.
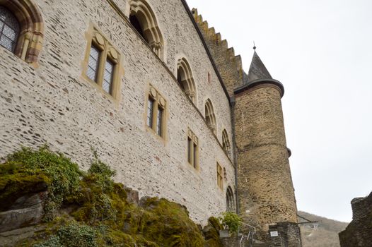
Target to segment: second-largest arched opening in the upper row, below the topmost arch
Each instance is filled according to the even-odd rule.
[[[194,78],[190,64],[185,58],[179,59],[177,64],[177,80],[182,90],[190,97],[192,102],[196,102],[197,90],[195,88]]]

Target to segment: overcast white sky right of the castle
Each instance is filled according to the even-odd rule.
[[[351,221],[372,191],[372,1],[187,0],[243,58],[255,40],[283,97],[298,210]]]

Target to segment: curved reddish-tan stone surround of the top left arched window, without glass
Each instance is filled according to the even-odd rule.
[[[37,67],[44,40],[44,20],[39,8],[31,0],[0,0],[0,5],[13,13],[20,24],[13,54]]]

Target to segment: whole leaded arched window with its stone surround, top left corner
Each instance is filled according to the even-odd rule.
[[[44,24],[30,0],[0,0],[0,44],[34,64],[42,48]]]

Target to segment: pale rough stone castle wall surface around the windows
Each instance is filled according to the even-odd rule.
[[[129,14],[127,0],[114,2]],[[234,167],[220,143],[223,128],[232,137],[231,109],[182,2],[149,0],[164,37],[164,63],[109,0],[35,0],[35,4],[45,21],[38,67],[0,47],[0,157],[21,145],[48,143],[88,169],[93,147],[103,162],[115,168],[115,180],[140,196],[175,200],[202,224],[226,210],[226,188],[234,190],[235,185]],[[81,76],[91,22],[124,56],[119,100],[96,91]],[[175,80],[182,56],[189,61],[197,85],[195,107]],[[150,83],[168,103],[165,140],[146,128]],[[216,137],[203,118],[208,98],[216,112]],[[199,138],[199,171],[187,164],[187,128]],[[217,186],[216,162],[226,168],[223,190]]]

